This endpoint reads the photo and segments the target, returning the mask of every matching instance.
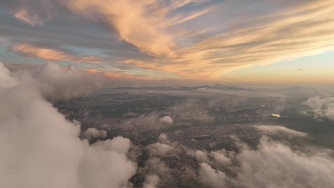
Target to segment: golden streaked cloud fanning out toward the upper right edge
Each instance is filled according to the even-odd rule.
[[[162,60],[147,63],[147,61],[133,59],[129,62],[137,66],[171,71],[188,77],[212,79],[232,70],[255,64],[276,63],[333,49],[331,42],[327,41],[329,35],[331,40],[334,39],[334,31],[329,28],[333,20],[327,19],[327,14],[333,13],[333,8],[329,8],[334,6],[331,1],[313,1],[306,4],[298,2],[291,6],[286,4],[284,7],[276,7],[277,4],[269,0],[261,3],[280,11],[258,12],[257,6],[250,5],[247,11],[240,14],[240,17],[235,15],[229,17],[230,19],[217,20],[215,18],[224,18],[224,15],[228,16],[233,14],[233,11],[243,9],[241,4],[221,3],[211,11],[224,9],[222,12],[225,13],[213,12],[208,14],[206,19],[211,19],[212,24],[215,25],[230,23],[224,29],[208,29],[214,34],[205,35],[204,33],[204,36],[200,35],[200,37],[183,36],[188,41],[195,42],[186,47],[177,48],[174,53],[177,58],[164,59],[164,63],[160,63]],[[228,5],[234,8],[226,8]],[[317,19],[311,21],[314,15]],[[213,27],[209,23],[203,23],[203,25],[207,28]],[[305,32],[299,32],[300,29],[305,29]],[[312,46],[308,46],[309,44]],[[286,48],[287,45],[288,48]]]

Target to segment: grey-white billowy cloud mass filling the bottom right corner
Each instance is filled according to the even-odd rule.
[[[199,179],[211,188],[331,188],[334,178],[332,151],[294,150],[263,136],[257,149],[236,139],[240,153],[230,155],[229,167],[212,161],[200,164]],[[216,160],[216,159],[213,159]],[[231,160],[234,161],[231,163]],[[221,161],[219,163],[225,163]],[[234,175],[227,175],[227,173]]]

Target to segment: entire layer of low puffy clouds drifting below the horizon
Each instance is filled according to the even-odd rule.
[[[195,179],[210,188],[333,187],[333,150],[299,142],[300,146],[294,146],[287,140],[270,138],[309,138],[306,133],[283,126],[251,126],[261,135],[256,148],[230,135],[236,151],[194,150],[160,134],[158,142],[143,149],[148,152],[143,166],[135,162],[141,150],[127,138],[118,136],[89,144],[88,140],[106,137],[106,132],[95,128],[82,132],[79,122],[66,120],[46,98],[87,94],[99,87],[98,79],[99,74],[76,67],[63,70],[56,63],[10,72],[0,62],[1,188],[133,188],[129,179],[136,173],[145,177],[143,188],[159,188],[168,187],[174,181],[173,173],[180,172],[179,177]],[[306,104],[318,109],[333,102],[332,98],[323,100],[311,98]],[[194,103],[179,104],[172,110],[173,114],[187,108],[197,111],[195,107]],[[169,116],[151,117],[165,126],[172,124]],[[142,120],[138,118],[135,124],[147,123],[148,119]],[[197,165],[194,168],[186,163],[177,171],[165,163],[167,157],[187,157]]]

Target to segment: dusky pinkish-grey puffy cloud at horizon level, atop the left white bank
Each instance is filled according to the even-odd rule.
[[[3,66],[3,64],[1,65]],[[37,89],[41,92],[42,97],[51,101],[68,100],[79,95],[87,95],[93,89],[100,88],[105,81],[103,73],[89,73],[74,65],[63,68],[52,62],[36,66],[33,69],[18,69],[11,75],[14,77],[12,80],[38,87]],[[4,83],[14,82],[7,81],[8,77],[5,76],[2,79]]]

